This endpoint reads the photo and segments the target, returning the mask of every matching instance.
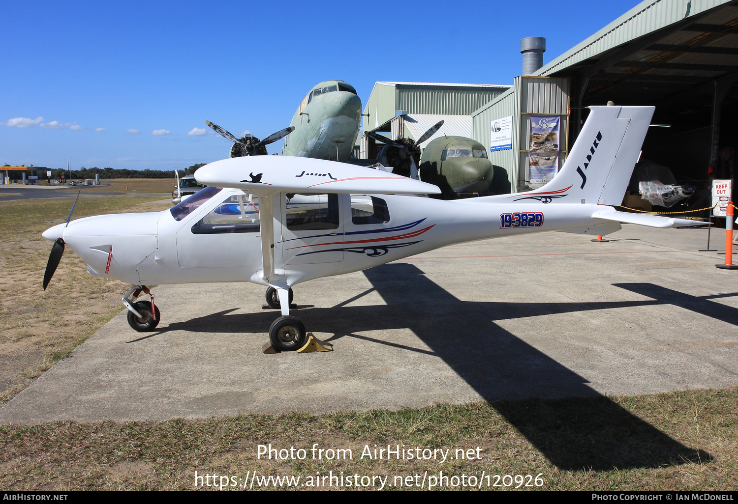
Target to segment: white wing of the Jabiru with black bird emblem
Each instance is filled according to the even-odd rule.
[[[291,155],[251,155],[221,159],[195,172],[199,183],[251,192],[440,194],[441,189],[412,178],[354,164]]]

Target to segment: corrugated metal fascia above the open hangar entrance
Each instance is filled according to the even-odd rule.
[[[580,61],[599,55],[608,49],[635,40],[658,29],[689,17],[704,13],[731,0],[646,0],[615,19],[607,27],[569,49],[536,75],[550,75]]]

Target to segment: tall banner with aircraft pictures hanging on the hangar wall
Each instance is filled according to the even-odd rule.
[[[559,169],[560,116],[531,116],[528,180],[533,189],[545,186]]]

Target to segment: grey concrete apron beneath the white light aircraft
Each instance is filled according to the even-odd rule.
[[[714,245],[725,231],[714,230]],[[254,284],[157,287],[0,409],[0,423],[324,413],[738,384],[738,272],[706,230],[624,225],[452,245],[295,288],[334,344],[261,353],[278,313]],[[123,293],[121,293],[123,294]]]

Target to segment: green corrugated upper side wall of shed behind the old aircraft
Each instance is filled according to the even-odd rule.
[[[397,108],[408,113],[441,113],[468,116],[505,91],[453,88],[409,88],[399,85]]]

